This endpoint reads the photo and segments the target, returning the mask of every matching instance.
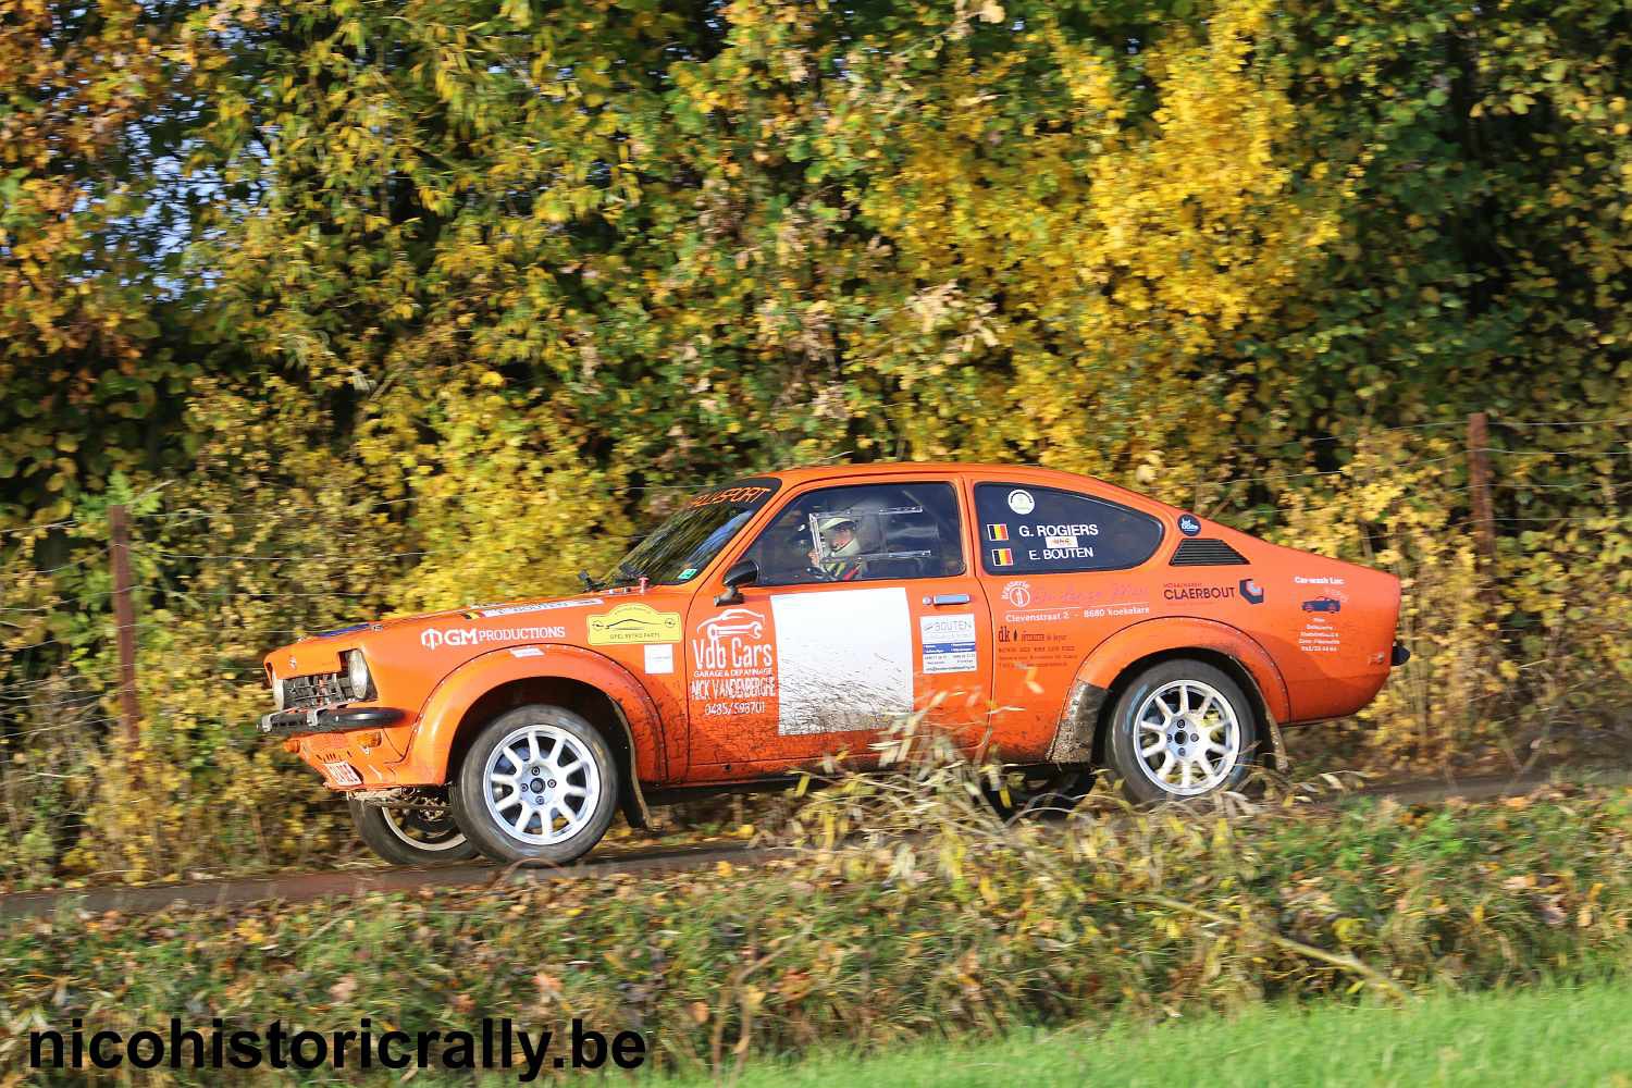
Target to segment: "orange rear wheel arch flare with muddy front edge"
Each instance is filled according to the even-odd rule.
[[[1214,666],[1240,685],[1268,739],[1270,762],[1286,770],[1279,723],[1289,714],[1289,698],[1275,659],[1239,628],[1195,618],[1149,620],[1124,628],[1089,654],[1071,685],[1049,762],[1103,765],[1116,700],[1144,670],[1180,659]]]

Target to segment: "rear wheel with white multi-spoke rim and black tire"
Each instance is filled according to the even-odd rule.
[[[1193,697],[1206,690],[1227,703],[1234,721],[1234,747],[1227,744],[1231,719],[1222,708],[1206,700],[1201,700],[1201,708],[1190,706]],[[1157,695],[1160,703],[1152,701]],[[1182,703],[1188,710],[1172,713]],[[1203,713],[1190,716],[1198,710]],[[1141,726],[1141,711],[1151,724]],[[1152,728],[1157,721],[1164,723],[1160,729]],[[1180,724],[1185,728],[1180,729]],[[1239,789],[1258,759],[1258,718],[1252,701],[1229,674],[1204,661],[1164,661],[1141,672],[1116,700],[1108,729],[1105,750],[1111,770],[1121,780],[1123,791],[1139,803],[1193,801]],[[1141,755],[1141,737],[1149,755]],[[1162,747],[1152,752],[1157,742]],[[1224,750],[1217,750],[1219,747]],[[1170,768],[1165,785],[1162,767]],[[1201,778],[1206,767],[1214,767],[1217,773]],[[1217,781],[1206,785],[1213,778]]]

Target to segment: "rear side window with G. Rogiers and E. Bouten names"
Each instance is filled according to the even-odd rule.
[[[1162,522],[1074,491],[1013,483],[974,488],[987,574],[1121,571],[1162,543]]]

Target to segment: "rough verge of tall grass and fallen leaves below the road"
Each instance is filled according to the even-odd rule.
[[[320,1029],[583,1016],[645,1031],[661,1067],[721,1070],[823,1042],[1632,966],[1632,789],[1154,812],[1097,794],[1005,827],[976,799],[989,772],[927,744],[904,780],[837,775],[790,812],[787,835],[832,848],[754,869],[11,923],[0,1060],[26,1028],[184,1008]]]

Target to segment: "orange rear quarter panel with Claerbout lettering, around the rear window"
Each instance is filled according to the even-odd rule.
[[[1227,654],[1252,675],[1279,723],[1351,714],[1387,680],[1400,604],[1392,574],[1273,545],[1082,476],[1048,470],[969,476],[971,484],[1077,491],[1151,514],[1164,527],[1155,553],[1131,569],[1025,576],[982,569],[997,633],[992,736],[1015,759],[1049,750],[1072,714],[1077,683],[1108,688],[1151,654],[1185,648]],[[1222,542],[1247,563],[1173,566],[1188,538]]]

